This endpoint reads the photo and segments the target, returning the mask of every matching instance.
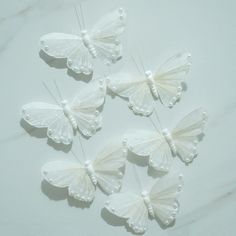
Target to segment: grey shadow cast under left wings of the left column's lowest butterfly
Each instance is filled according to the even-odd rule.
[[[49,184],[47,181],[43,180],[41,182],[41,191],[44,195],[46,195],[50,200],[53,201],[61,201],[67,200],[68,205],[76,208],[89,208],[91,203],[81,202],[76,200],[68,195],[67,188],[57,188]]]

